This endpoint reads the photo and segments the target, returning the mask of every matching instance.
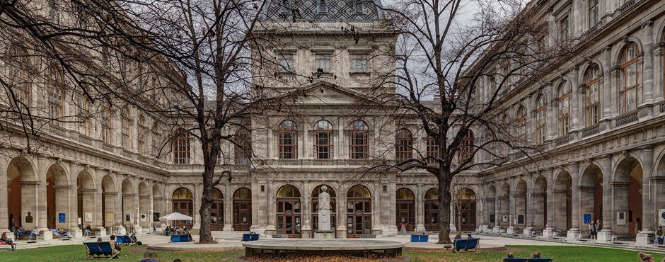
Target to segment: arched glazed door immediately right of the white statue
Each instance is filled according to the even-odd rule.
[[[347,237],[371,234],[371,194],[365,186],[352,186],[347,192]]]

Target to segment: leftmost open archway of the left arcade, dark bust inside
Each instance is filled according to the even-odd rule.
[[[37,228],[37,201],[23,198],[23,195],[37,194],[35,169],[30,161],[23,158],[12,159],[7,168],[7,212],[9,227]],[[27,217],[30,218],[27,218]]]

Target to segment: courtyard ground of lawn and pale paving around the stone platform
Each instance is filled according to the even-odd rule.
[[[161,235],[143,235],[139,240],[141,246],[122,246],[120,258],[114,261],[140,261],[146,252],[154,252],[158,261],[500,261],[510,252],[515,257],[528,258],[539,251],[543,258],[554,258],[554,261],[637,261],[640,251],[619,249],[620,246],[599,247],[582,244],[565,244],[555,241],[540,241],[535,239],[516,239],[509,237],[495,237],[480,235],[480,246],[491,246],[487,251],[469,252],[456,254],[451,250],[442,249],[441,245],[434,244],[437,240],[432,235],[429,243],[408,243],[409,235],[385,238],[386,240],[406,243],[403,256],[400,258],[358,258],[352,256],[285,256],[282,258],[248,257],[241,245],[241,237],[237,234],[218,235],[214,250],[196,251],[187,248],[191,243],[168,243],[169,237]],[[197,239],[197,236],[195,236]],[[94,241],[95,239],[72,239],[71,241],[38,241],[36,244],[26,244],[19,241],[18,250],[0,251],[0,261],[84,261],[86,250],[82,241]],[[105,239],[108,240],[108,239]],[[260,239],[258,241],[262,241]],[[363,241],[359,239],[357,241]],[[48,242],[48,243],[47,243]],[[183,251],[161,251],[152,250],[148,246],[185,246]],[[665,254],[657,251],[642,251],[652,254],[655,261],[661,261]]]

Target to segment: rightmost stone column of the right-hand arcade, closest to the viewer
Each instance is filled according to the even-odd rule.
[[[654,147],[648,145],[642,149],[642,231],[637,234],[635,244],[648,246],[654,234],[654,226],[657,224],[654,206],[654,186],[652,175],[654,173]]]

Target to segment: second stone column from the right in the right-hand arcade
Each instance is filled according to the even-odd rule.
[[[601,231],[598,232],[598,241],[612,241],[614,235],[614,199],[613,187],[610,184],[612,173],[612,155],[606,154],[601,159],[603,169],[603,221]]]

